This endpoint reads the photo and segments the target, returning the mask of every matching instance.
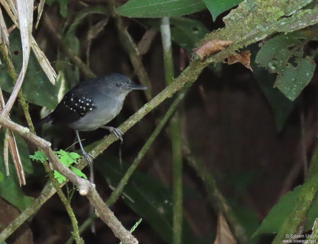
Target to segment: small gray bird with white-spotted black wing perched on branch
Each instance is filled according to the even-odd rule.
[[[90,157],[94,157],[84,151],[78,131],[105,128],[121,139],[123,133],[119,129],[103,125],[119,114],[129,92],[145,89],[147,87],[133,83],[127,76],[115,73],[83,81],[69,90],[55,110],[37,125],[52,121],[53,125],[66,124],[74,129],[83,155],[91,162]]]

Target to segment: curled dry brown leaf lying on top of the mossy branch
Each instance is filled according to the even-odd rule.
[[[199,48],[194,48],[193,51],[200,56],[201,60],[206,55],[210,55],[212,53],[223,50],[225,47],[233,44],[232,41],[225,41],[219,39],[213,39],[205,44],[203,44]]]

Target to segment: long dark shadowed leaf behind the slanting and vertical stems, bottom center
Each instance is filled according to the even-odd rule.
[[[106,155],[104,155],[106,157]],[[104,175],[110,186],[116,187],[123,177],[123,171],[118,159],[108,156],[107,159],[98,157],[94,166]],[[127,164],[123,164],[127,169]],[[125,186],[122,197],[126,204],[137,214],[146,218],[156,232],[167,242],[172,241],[172,194],[161,183],[149,176],[135,171]],[[192,244],[194,239],[184,221],[183,244]]]

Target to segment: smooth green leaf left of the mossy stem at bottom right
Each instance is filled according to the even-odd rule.
[[[294,208],[295,201],[301,192],[301,187],[302,186],[297,186],[293,191],[282,196],[279,203],[271,209],[271,212],[266,216],[252,237],[263,233],[277,233],[279,231],[284,220]]]

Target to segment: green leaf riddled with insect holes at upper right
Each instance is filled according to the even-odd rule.
[[[303,47],[309,40],[302,31],[280,34],[267,41],[256,56],[255,62],[278,74],[274,86],[292,101],[314,75],[313,58],[303,58]]]

